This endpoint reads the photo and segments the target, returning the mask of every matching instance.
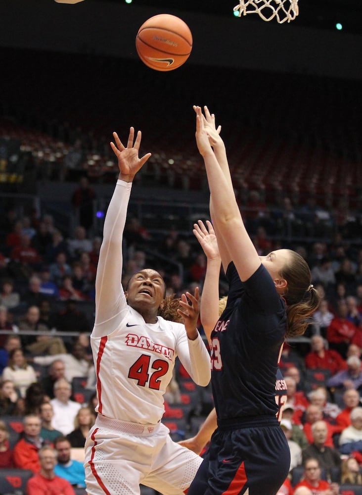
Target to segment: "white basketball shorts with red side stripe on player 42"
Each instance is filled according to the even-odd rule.
[[[181,495],[202,458],[171,440],[162,423],[140,425],[98,414],[86,441],[88,495],[139,495],[139,485]]]

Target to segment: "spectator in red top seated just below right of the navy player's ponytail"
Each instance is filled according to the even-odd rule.
[[[325,348],[324,339],[320,335],[311,337],[311,352],[306,355],[305,363],[308,369],[329,369],[332,375],[347,367],[339,352]]]

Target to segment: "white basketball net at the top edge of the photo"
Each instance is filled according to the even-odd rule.
[[[293,21],[298,13],[298,0],[240,0],[234,11],[238,16],[258,14],[264,21],[271,21],[274,17],[279,24]]]

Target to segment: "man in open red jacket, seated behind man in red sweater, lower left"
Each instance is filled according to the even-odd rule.
[[[36,414],[29,414],[23,419],[23,438],[14,446],[15,467],[30,469],[34,474],[40,471],[38,452],[44,445],[40,437],[41,421]]]

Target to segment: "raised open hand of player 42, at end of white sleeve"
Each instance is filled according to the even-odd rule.
[[[127,147],[125,147],[118,137],[116,132],[113,133],[115,143],[110,143],[114,154],[118,159],[119,179],[132,182],[136,173],[146,163],[151,153],[146,153],[141,158],[138,158],[139,145],[141,143],[141,131],[137,132],[134,143],[135,129],[130,127]]]

